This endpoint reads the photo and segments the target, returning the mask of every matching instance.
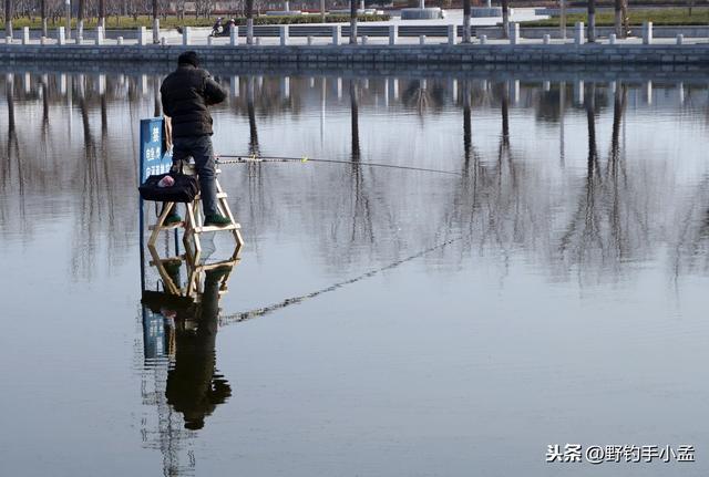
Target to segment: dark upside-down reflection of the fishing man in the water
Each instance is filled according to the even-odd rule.
[[[232,395],[232,387],[215,369],[219,283],[229,271],[207,271],[202,303],[178,310],[175,319],[175,364],[167,373],[165,395],[183,413],[188,429],[201,429],[204,418]]]

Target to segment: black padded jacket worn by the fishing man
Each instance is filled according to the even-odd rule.
[[[173,137],[212,135],[207,106],[226,97],[224,90],[205,70],[181,64],[160,89],[163,111],[172,117]]]

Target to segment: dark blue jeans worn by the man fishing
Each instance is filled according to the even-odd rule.
[[[179,167],[182,160],[187,163],[189,157],[195,159],[205,217],[218,214],[212,136],[175,137],[173,145],[173,167]]]

